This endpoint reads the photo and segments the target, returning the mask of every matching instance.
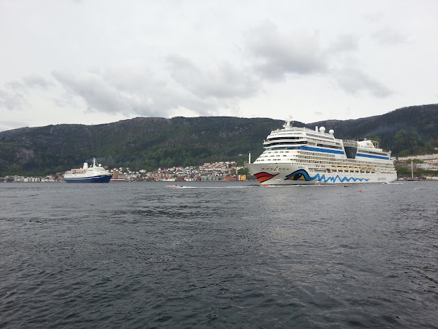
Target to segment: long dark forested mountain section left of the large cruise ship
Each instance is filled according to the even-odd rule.
[[[263,138],[282,123],[235,117],[135,118],[9,130],[0,132],[0,177],[65,171],[94,156],[110,168],[136,170],[246,160],[248,151],[261,153]]]

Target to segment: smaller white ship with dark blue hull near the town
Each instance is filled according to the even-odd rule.
[[[108,183],[112,178],[112,173],[97,164],[96,158],[93,158],[91,167],[88,162],[83,162],[81,169],[71,169],[64,173],[64,180],[67,183]]]

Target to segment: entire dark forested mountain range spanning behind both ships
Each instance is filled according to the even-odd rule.
[[[43,175],[96,157],[108,167],[157,169],[258,156],[283,121],[237,117],[135,118],[103,125],[48,125],[0,132],[0,177]],[[438,147],[438,104],[400,108],[346,121],[319,121],[337,138],[370,138],[393,155],[433,153]]]

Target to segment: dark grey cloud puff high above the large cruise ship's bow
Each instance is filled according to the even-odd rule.
[[[246,48],[255,58],[255,71],[270,80],[281,80],[291,73],[320,73],[326,69],[326,62],[314,36],[304,33],[280,34],[270,22],[248,32]]]

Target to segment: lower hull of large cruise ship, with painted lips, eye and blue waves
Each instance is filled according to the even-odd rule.
[[[311,171],[307,166],[288,163],[245,165],[261,184],[267,185],[389,183],[397,179],[396,173],[361,173],[360,170],[333,169]]]

